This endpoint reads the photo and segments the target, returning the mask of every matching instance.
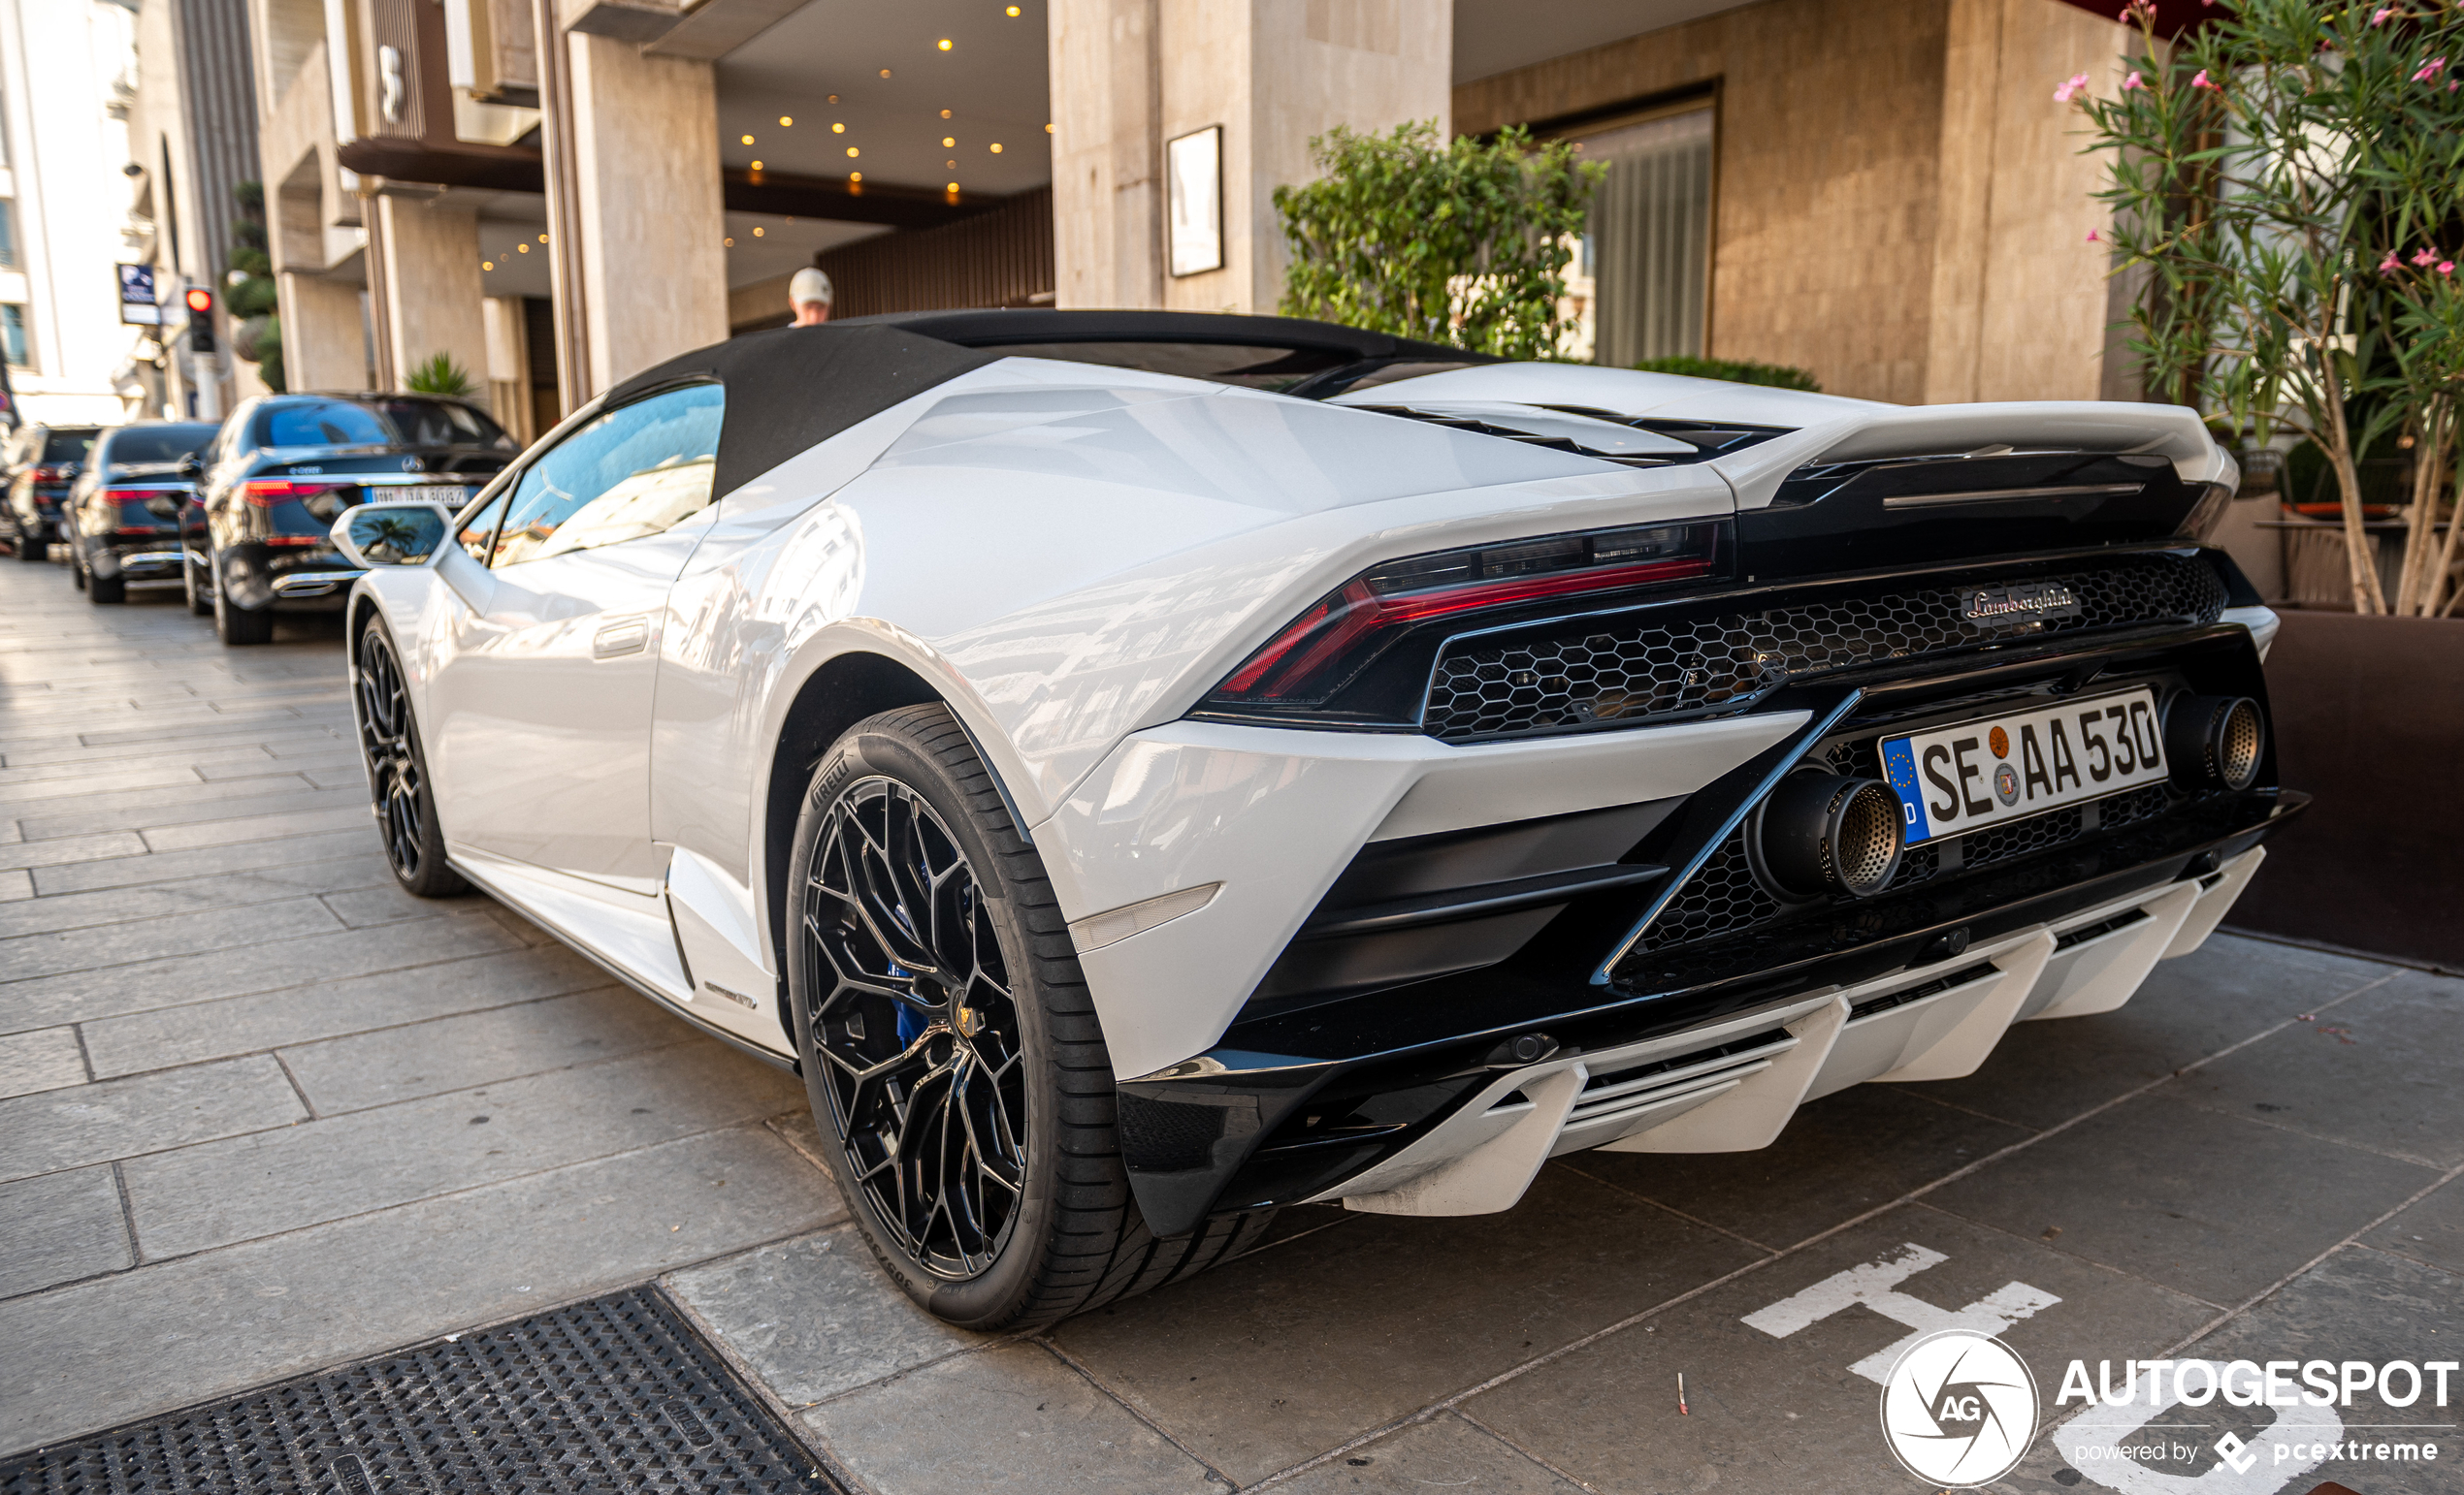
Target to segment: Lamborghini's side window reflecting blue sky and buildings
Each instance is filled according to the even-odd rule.
[[[601,414],[540,453],[513,488],[495,564],[658,534],[710,505],[719,384],[687,384]]]

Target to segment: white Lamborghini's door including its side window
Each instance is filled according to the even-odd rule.
[[[483,606],[453,598],[429,687],[453,842],[655,894],[650,692],[668,589],[710,527],[719,384],[601,411],[466,527]],[[476,532],[476,539],[473,539]]]

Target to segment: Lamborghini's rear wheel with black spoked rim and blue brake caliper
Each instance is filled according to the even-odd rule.
[[[1146,1227],[1069,929],[946,707],[867,717],[813,766],[786,911],[830,1172],[919,1305],[971,1330],[1050,1325],[1264,1234],[1271,1212]]]

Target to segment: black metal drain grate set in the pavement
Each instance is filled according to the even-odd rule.
[[[655,1288],[0,1463],[0,1495],[835,1490]]]

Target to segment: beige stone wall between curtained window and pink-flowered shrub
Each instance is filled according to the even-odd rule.
[[[1715,357],[1863,399],[2094,399],[2097,165],[2053,89],[2109,89],[2119,44],[2057,0],[1767,0],[1464,84],[1454,113],[1717,89]]]

